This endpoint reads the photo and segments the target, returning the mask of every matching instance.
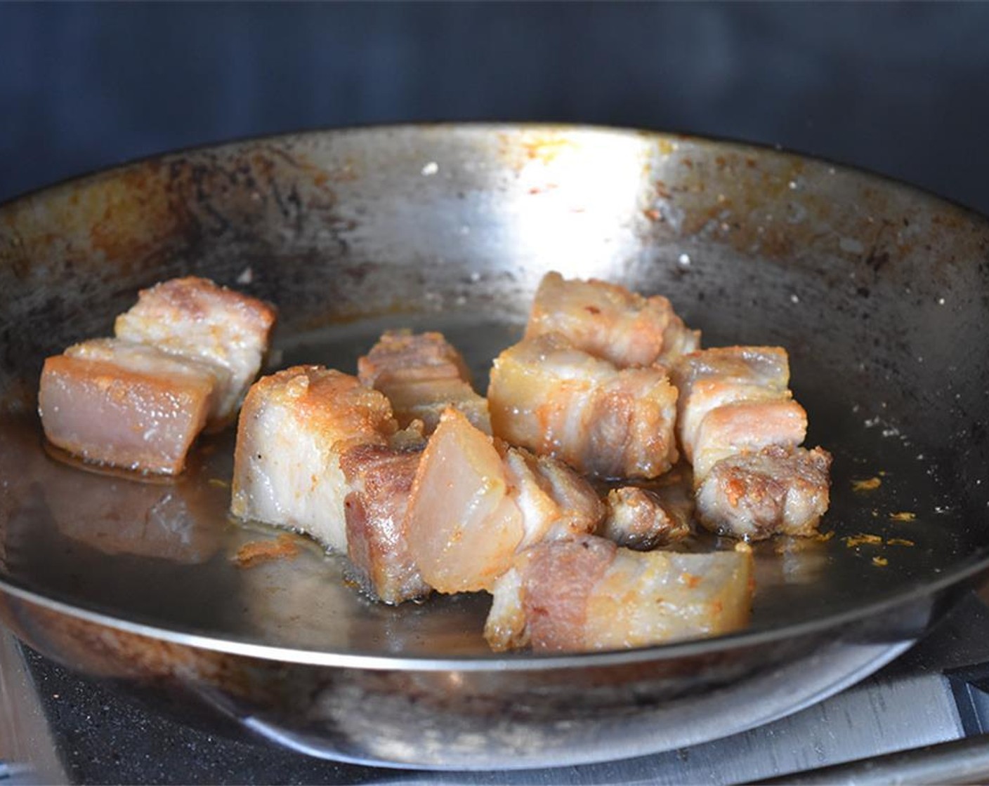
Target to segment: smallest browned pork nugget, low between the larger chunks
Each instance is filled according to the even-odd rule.
[[[685,487],[663,492],[626,485],[608,491],[604,520],[597,534],[637,552],[670,546],[687,537],[692,495]],[[674,499],[670,496],[673,495]]]

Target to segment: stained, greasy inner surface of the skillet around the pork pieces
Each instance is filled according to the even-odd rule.
[[[303,661],[502,660],[480,637],[482,597],[376,607],[305,543],[293,562],[237,568],[237,546],[271,533],[225,518],[230,435],[205,441],[172,484],[45,454],[34,414],[45,355],[108,334],[138,288],[187,272],[279,306],[279,365],[352,370],[383,326],[411,325],[445,330],[483,385],[549,269],[666,294],[706,345],[786,346],[808,444],[835,454],[822,527],[835,535],[759,547],[753,627],[733,646],[867,613],[986,558],[989,228],[898,184],[652,133],[315,132],[16,201],[0,209],[0,254],[0,576],[163,638]],[[871,477],[879,488],[853,490]],[[903,513],[913,518],[892,517]],[[859,534],[883,543],[847,540]]]

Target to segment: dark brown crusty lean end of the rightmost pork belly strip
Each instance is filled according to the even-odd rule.
[[[697,514],[723,535],[811,535],[829,504],[831,455],[772,445],[715,464],[697,489]]]

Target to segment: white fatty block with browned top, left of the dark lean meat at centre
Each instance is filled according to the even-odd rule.
[[[388,446],[397,428],[388,399],[356,377],[319,366],[263,377],[237,424],[230,511],[346,554],[350,489],[340,459],[356,446]]]

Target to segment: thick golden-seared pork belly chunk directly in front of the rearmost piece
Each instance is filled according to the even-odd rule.
[[[616,369],[559,333],[494,360],[494,435],[601,478],[656,478],[677,459],[676,391],[662,366]]]

